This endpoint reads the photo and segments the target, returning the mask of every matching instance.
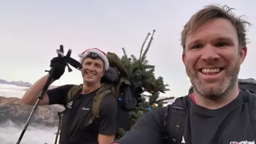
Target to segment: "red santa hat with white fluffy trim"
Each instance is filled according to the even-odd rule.
[[[87,49],[82,53],[78,54],[79,62],[83,63],[84,59],[86,58],[87,55],[89,55],[90,53],[95,53],[97,54],[104,62],[104,66],[105,66],[105,70],[108,70],[109,67],[109,62],[108,62],[108,58],[106,57],[106,53],[101,51],[100,49],[97,48],[93,48],[93,49]]]

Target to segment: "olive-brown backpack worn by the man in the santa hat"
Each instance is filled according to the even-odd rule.
[[[105,71],[105,75],[101,78],[101,87],[96,93],[92,102],[92,116],[89,120],[85,119],[84,125],[88,126],[93,123],[95,118],[100,117],[101,100],[108,93],[112,93],[117,101],[118,106],[118,130],[116,137],[122,137],[127,130],[127,122],[129,121],[130,111],[133,110],[138,103],[142,88],[129,80],[127,70],[123,66],[121,60],[115,53],[108,52],[106,54],[109,61],[109,69]],[[66,103],[73,101],[75,95],[82,90],[83,84],[73,86],[68,94]],[[55,143],[57,143],[58,135],[60,133],[62,114],[64,111],[58,113],[59,126]]]

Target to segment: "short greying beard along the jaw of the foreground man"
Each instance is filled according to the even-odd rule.
[[[206,88],[204,85],[197,79],[197,76],[191,76],[191,84],[194,87],[194,91],[197,91],[200,95],[202,95],[204,98],[218,101],[225,97],[227,93],[233,89],[235,86],[237,80],[238,80],[238,74],[240,71],[240,65],[239,63],[236,63],[236,67],[231,70],[227,71],[227,76],[223,79],[222,82],[219,83],[218,89],[214,89],[213,87]],[[230,73],[229,73],[230,72]],[[188,73],[187,73],[188,74]],[[188,75],[189,76],[189,75]]]

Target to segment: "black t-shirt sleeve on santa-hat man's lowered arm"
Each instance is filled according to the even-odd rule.
[[[99,134],[116,135],[117,131],[117,101],[112,94],[107,94],[100,105]]]

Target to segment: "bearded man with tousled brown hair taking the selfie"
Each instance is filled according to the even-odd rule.
[[[145,114],[114,143],[255,142],[256,94],[238,87],[250,23],[231,10],[208,5],[181,32],[182,61],[194,93]]]

